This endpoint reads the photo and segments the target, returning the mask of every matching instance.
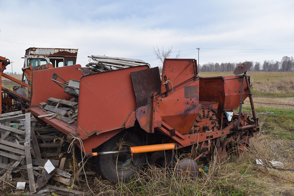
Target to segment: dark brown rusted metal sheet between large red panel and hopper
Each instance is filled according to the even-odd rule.
[[[151,102],[151,94],[160,93],[160,75],[158,67],[131,72],[137,106]]]

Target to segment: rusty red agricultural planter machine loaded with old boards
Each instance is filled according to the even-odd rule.
[[[127,180],[146,163],[171,167],[179,151],[194,153],[194,160],[177,160],[173,167],[196,176],[199,157],[226,161],[228,146],[243,150],[259,131],[246,74],[250,62],[237,66],[235,76],[200,77],[195,59],[165,59],[160,75],[158,67],[135,59],[128,59],[134,66],[124,67],[123,58],[104,64],[97,58],[88,74],[78,64],[34,71],[26,111],[65,133],[88,158],[94,156],[107,180]],[[79,82],[75,97],[60,87],[69,86],[67,81]],[[241,110],[247,97],[252,118]],[[52,105],[51,98],[71,100],[77,120],[44,117],[40,103]]]

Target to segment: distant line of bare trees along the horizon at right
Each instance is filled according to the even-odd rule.
[[[243,63],[243,62],[240,62]],[[200,65],[200,72],[230,72],[240,63],[205,63]],[[251,61],[252,66],[249,71],[294,71],[293,57],[284,56],[281,61],[265,60],[263,64]]]

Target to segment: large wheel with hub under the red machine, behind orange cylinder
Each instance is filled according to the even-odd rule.
[[[143,145],[142,138],[136,135],[133,130],[126,130],[101,144],[97,148],[97,152],[120,150],[141,145]],[[143,153],[133,155],[134,165],[140,163],[142,156]],[[126,181],[138,170],[141,170],[144,163],[145,159],[143,158],[138,167],[133,166],[131,155],[128,153],[98,155],[95,157],[95,164],[99,174],[108,181]]]

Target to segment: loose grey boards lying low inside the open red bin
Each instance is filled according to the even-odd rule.
[[[78,103],[75,102],[75,98],[68,101],[51,97],[47,99],[47,103],[40,103],[40,108],[47,114],[40,115],[38,118],[57,118],[69,124],[74,123],[78,115]]]

